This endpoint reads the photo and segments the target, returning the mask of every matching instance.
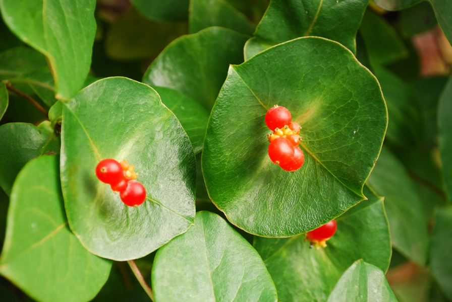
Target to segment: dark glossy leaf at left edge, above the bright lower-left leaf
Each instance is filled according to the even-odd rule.
[[[0,126],[0,187],[10,195],[19,171],[30,160],[48,152],[60,153],[60,138],[55,136],[50,122],[38,127],[26,123]]]

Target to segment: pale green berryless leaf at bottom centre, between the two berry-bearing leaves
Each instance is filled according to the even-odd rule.
[[[195,226],[157,251],[155,301],[276,301],[259,254],[218,215],[196,213]]]

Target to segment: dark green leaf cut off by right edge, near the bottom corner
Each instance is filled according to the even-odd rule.
[[[430,268],[444,294],[452,299],[452,207],[436,213],[430,245]]]

